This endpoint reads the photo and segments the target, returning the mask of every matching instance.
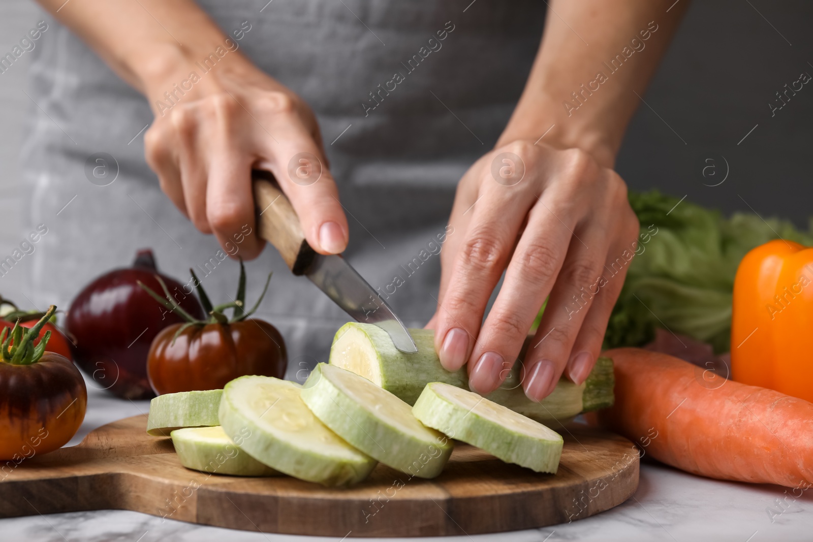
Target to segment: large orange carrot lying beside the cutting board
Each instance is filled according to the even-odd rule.
[[[667,465],[709,478],[813,485],[813,403],[704,374],[663,353],[614,349],[606,427]]]

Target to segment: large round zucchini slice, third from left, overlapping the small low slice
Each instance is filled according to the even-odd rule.
[[[286,475],[325,486],[350,485],[376,466],[316,418],[302,386],[271,376],[241,376],[226,384],[220,425],[251,457]],[[248,432],[247,436],[246,431]]]

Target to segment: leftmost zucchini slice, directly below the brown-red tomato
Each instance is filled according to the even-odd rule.
[[[181,427],[211,427],[220,425],[217,410],[220,407],[222,389],[204,392],[167,393],[150,401],[147,416],[147,433],[152,436],[169,436]]]

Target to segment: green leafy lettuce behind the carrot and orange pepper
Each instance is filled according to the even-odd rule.
[[[630,193],[629,202],[641,236],[605,348],[645,345],[661,327],[709,343],[715,353],[727,352],[734,275],[742,257],[776,238],[813,245],[813,219],[807,232],[799,232],[789,221],[751,213],[726,219],[658,191]]]

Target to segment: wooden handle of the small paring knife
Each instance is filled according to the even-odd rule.
[[[270,171],[251,171],[259,236],[274,245],[294,275],[307,272],[315,251],[305,241],[297,211]]]

